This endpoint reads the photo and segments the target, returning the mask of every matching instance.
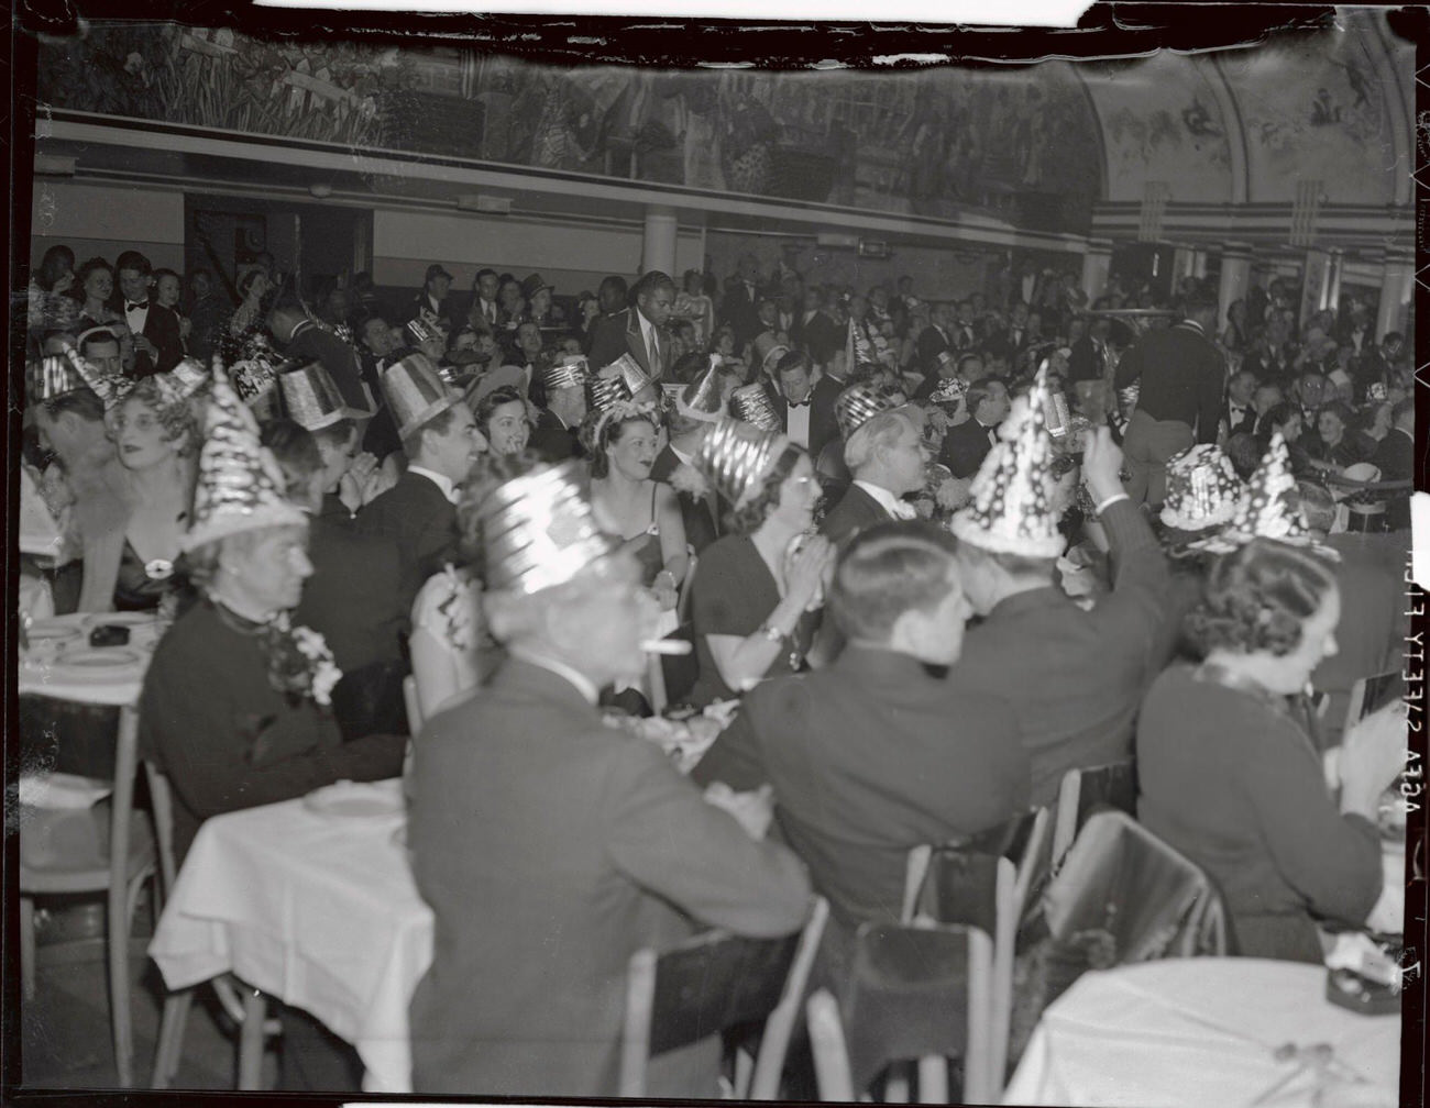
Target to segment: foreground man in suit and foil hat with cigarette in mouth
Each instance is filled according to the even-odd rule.
[[[413,742],[408,849],[436,918],[410,1005],[420,1094],[613,1097],[635,951],[699,926],[775,938],[809,909],[798,859],[755,838],[768,811],[732,818],[602,721],[598,689],[645,669],[654,606],[569,480],[532,476],[483,506],[486,532],[506,553],[539,540],[562,556],[488,548],[486,612],[509,661]],[[652,1059],[648,1092],[714,1095],[718,1069],[716,1037]]]

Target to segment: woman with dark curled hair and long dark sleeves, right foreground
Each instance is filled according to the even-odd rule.
[[[1187,618],[1195,666],[1165,671],[1137,722],[1138,819],[1221,889],[1241,955],[1321,961],[1317,919],[1364,924],[1381,894],[1376,815],[1404,716],[1350,728],[1338,801],[1287,698],[1336,653],[1334,569],[1253,539],[1211,568]]]

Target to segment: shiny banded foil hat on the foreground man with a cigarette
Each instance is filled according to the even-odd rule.
[[[596,526],[575,459],[505,482],[478,518],[486,585],[499,592],[565,585],[621,545]]]

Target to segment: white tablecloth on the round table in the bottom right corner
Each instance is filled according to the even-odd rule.
[[[1042,1014],[1004,1104],[1244,1108],[1298,1068],[1273,1058],[1286,1042],[1330,1044],[1364,1092],[1397,1104],[1400,1018],[1333,1005],[1324,966],[1258,958],[1085,974]],[[1266,1104],[1310,1105],[1311,1085],[1303,1075]]]

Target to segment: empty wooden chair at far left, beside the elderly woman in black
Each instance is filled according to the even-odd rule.
[[[34,898],[59,894],[106,894],[106,962],[109,966],[110,1028],[114,1039],[114,1069],[119,1084],[134,1084],[134,1025],[129,1008],[129,931],[139,891],[157,874],[154,836],[147,821],[134,812],[134,776],[139,759],[139,712],[133,705],[119,713],[119,745],[114,752],[114,792],[110,796],[109,846],[83,842],[56,844],[53,856],[34,839],[40,828],[53,826],[43,813],[20,825],[20,982],[26,998],[34,995]],[[90,812],[74,812],[90,819]],[[31,849],[26,849],[26,826]],[[87,831],[87,828],[84,828]],[[63,831],[60,831],[63,835]],[[159,909],[156,895],[154,911]]]

